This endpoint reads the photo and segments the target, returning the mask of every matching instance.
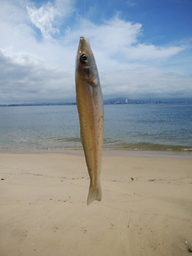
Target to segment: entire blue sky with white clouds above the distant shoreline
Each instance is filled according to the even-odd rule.
[[[104,99],[192,99],[191,0],[0,0],[0,103],[75,102],[80,36]]]

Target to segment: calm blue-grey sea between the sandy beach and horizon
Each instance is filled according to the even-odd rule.
[[[104,105],[103,147],[192,151],[192,104]],[[0,151],[82,148],[76,105],[0,108]]]

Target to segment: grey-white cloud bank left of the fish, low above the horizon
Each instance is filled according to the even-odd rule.
[[[43,59],[12,49],[0,50],[0,95],[3,102],[70,98],[74,94],[73,70],[52,67]],[[63,82],[66,82],[63,86]],[[59,95],[62,95],[60,97]]]

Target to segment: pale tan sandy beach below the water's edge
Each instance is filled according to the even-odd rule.
[[[192,255],[192,153],[0,154],[0,255]]]

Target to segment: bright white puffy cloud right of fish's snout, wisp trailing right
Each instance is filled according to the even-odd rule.
[[[119,58],[121,61],[168,58],[183,50],[183,47],[140,44],[139,37],[142,33],[141,24],[126,22],[118,17],[105,22],[104,25],[87,25],[87,34],[95,49],[98,52],[104,50],[105,55]]]

